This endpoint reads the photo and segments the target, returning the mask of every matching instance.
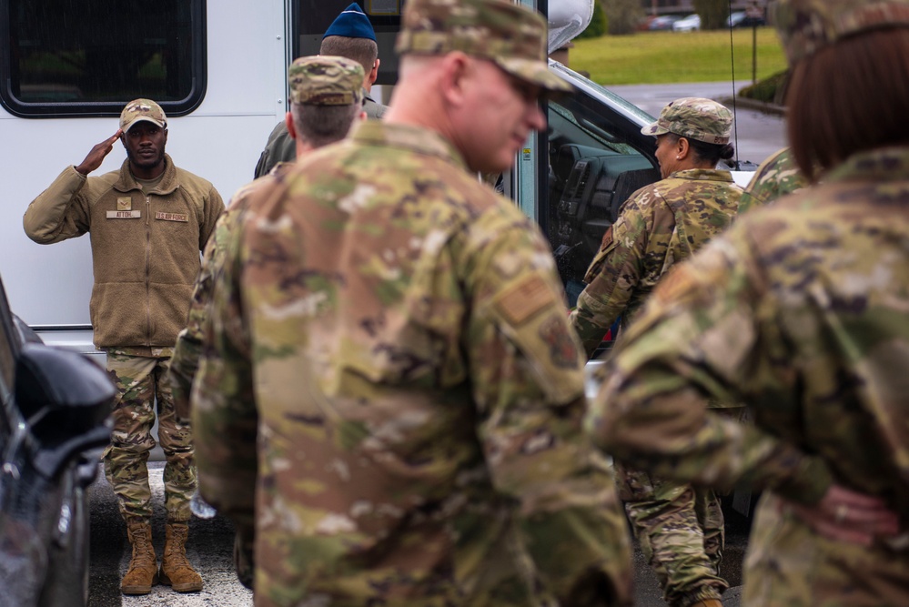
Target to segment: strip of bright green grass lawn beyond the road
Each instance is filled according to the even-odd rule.
[[[732,30],[735,79],[752,78],[752,29]],[[575,40],[569,65],[601,85],[647,85],[732,80],[729,30],[638,32]],[[786,68],[772,27],[757,30],[757,78]]]

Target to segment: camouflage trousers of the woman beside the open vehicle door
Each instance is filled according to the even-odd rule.
[[[743,410],[715,411],[739,419]],[[663,599],[672,607],[719,599],[729,588],[719,574],[725,540],[719,498],[713,491],[654,478],[621,462],[615,470],[619,496]]]

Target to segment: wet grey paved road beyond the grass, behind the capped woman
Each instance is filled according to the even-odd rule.
[[[716,99],[732,109],[733,91],[737,92],[751,81],[708,82],[681,85],[627,85],[610,86],[616,95],[624,97],[635,106],[659,116],[660,110],[673,99],[685,96]],[[740,160],[760,164],[779,148],[786,145],[786,129],[782,116],[736,106],[733,145]]]

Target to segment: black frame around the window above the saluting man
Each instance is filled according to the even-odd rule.
[[[73,101],[24,101],[13,94],[13,35],[11,18],[16,2],[25,0],[0,0],[0,106],[14,116],[24,118],[58,118],[66,116],[119,116],[123,106],[136,98],[106,100],[76,99]],[[207,11],[205,0],[183,0],[189,3],[189,90],[181,99],[156,99],[167,116],[186,116],[199,105],[207,91]]]

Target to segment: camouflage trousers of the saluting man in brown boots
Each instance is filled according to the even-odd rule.
[[[155,448],[151,430],[157,400],[158,440],[167,463],[164,469],[167,521],[188,521],[189,500],[196,491],[196,462],[192,430],[174,413],[167,379],[170,357],[126,356],[107,353],[107,370],[119,390],[111,444],[104,453],[105,476],[120,502],[124,520],[152,516],[148,485],[148,452]]]

